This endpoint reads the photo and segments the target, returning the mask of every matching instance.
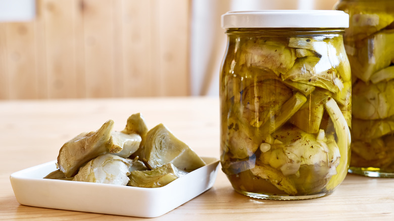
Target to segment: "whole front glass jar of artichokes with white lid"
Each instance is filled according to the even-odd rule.
[[[351,72],[341,11],[222,16],[221,165],[235,191],[262,199],[330,194],[350,160]]]

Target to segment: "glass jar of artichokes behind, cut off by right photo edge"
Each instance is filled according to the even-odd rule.
[[[342,0],[349,14],[343,41],[352,68],[349,172],[394,177],[394,1]]]

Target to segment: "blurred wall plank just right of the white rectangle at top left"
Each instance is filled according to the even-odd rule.
[[[44,22],[45,71],[48,98],[75,98],[76,85],[76,1],[42,0]]]

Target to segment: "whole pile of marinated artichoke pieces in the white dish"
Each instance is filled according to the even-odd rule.
[[[97,131],[66,142],[59,151],[59,169],[44,178],[161,187],[205,165],[164,125],[147,131],[140,114],[130,116],[122,132],[112,131],[113,126],[109,120]]]

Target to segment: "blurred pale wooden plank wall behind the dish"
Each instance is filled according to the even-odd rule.
[[[0,99],[189,95],[190,0],[37,0],[0,23]]]

